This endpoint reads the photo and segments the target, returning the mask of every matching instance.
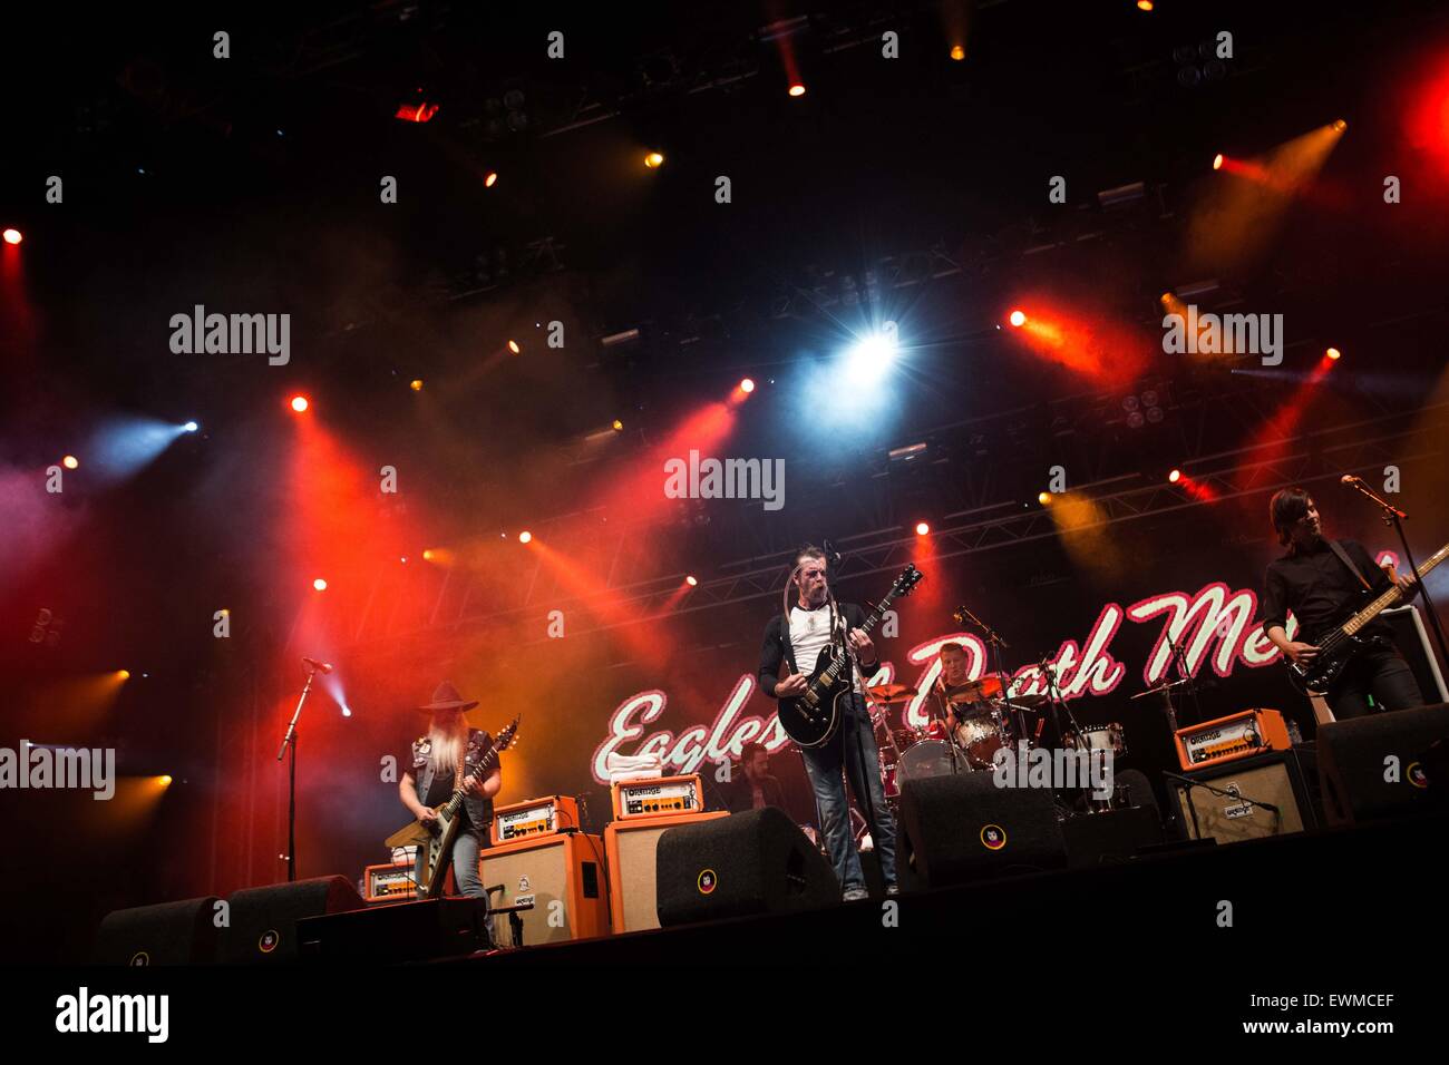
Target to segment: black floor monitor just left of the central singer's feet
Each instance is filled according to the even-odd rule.
[[[835,869],[784,810],[767,806],[681,824],[659,838],[659,924],[820,910],[840,900]]]

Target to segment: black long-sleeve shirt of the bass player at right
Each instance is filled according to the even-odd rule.
[[[1339,545],[1353,559],[1375,596],[1391,587],[1388,575],[1369,558],[1362,543],[1339,540]],[[1298,639],[1317,643],[1326,632],[1366,604],[1362,593],[1359,578],[1349,572],[1329,542],[1320,538],[1311,548],[1268,564],[1262,598],[1264,630],[1274,625],[1287,626],[1291,610],[1301,629]],[[1381,619],[1365,625],[1361,633],[1390,639],[1394,636],[1392,629]]]

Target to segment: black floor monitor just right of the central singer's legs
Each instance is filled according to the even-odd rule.
[[[895,820],[901,891],[1066,865],[1051,788],[998,788],[991,772],[906,781]]]

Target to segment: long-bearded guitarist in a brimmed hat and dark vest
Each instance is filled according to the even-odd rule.
[[[455,781],[471,772],[493,746],[493,738],[487,732],[468,726],[464,714],[475,706],[478,700],[465,700],[452,684],[443,681],[433,691],[433,701],[417,707],[432,714],[432,719],[427,733],[413,740],[412,751],[401,759],[401,765],[407,768],[397,793],[403,806],[420,822],[438,819],[436,807],[452,797]],[[485,897],[478,878],[478,851],[483,846],[483,832],[493,820],[493,797],[501,787],[503,771],[498,767],[481,782],[469,781],[467,787],[462,804],[465,823],[459,826],[454,840],[452,868],[458,891],[469,898]],[[423,858],[420,852],[419,866],[425,865]]]

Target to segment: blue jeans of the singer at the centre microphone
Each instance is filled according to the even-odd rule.
[[[875,730],[871,727],[865,700],[851,693],[842,703],[845,713],[830,742],[819,748],[801,748],[801,753],[820,807],[820,833],[824,836],[826,853],[830,855],[840,887],[849,891],[865,887],[865,874],[861,871],[861,853],[851,836],[851,807],[840,769],[851,778],[851,791],[871,826],[875,856],[881,859],[881,874],[887,884],[895,882],[895,819],[885,804]]]

